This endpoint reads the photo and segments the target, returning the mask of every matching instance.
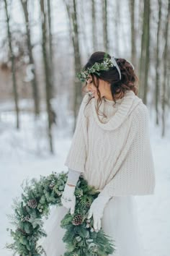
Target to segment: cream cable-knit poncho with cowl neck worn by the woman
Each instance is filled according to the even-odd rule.
[[[149,139],[148,108],[129,90],[122,99],[97,100],[84,95],[65,165],[83,173],[100,195],[153,194],[155,175]],[[115,104],[115,106],[113,106]],[[84,111],[84,107],[85,111]]]

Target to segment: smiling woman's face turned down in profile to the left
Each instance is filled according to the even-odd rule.
[[[94,77],[94,80],[95,80],[95,82],[97,82],[97,78],[96,77]],[[86,80],[86,82],[87,82],[87,85],[86,85],[87,90],[92,93],[94,98],[97,99],[98,98],[97,88],[94,85],[94,83],[92,82],[91,76],[89,77],[88,80]],[[101,80],[101,79],[99,79],[99,88],[98,89],[99,89],[101,98],[104,97],[104,96],[107,96],[108,93],[110,93],[110,85],[109,85],[109,83],[105,82],[104,80]]]

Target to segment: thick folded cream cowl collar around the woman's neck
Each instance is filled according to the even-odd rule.
[[[137,106],[139,103],[142,103],[142,100],[135,95],[133,90],[126,91],[124,97],[120,100],[121,101],[118,100],[116,103],[117,111],[115,115],[112,116],[109,121],[107,121],[107,123],[102,123],[102,121],[99,119],[100,117],[97,114],[97,100],[95,98],[92,98],[91,104],[93,109],[93,115],[99,127],[109,131],[117,129],[125,121],[125,119],[127,119],[135,106]],[[102,112],[104,112],[104,101],[104,98],[102,98],[102,104],[99,106],[99,110]],[[114,101],[109,102],[114,103]]]

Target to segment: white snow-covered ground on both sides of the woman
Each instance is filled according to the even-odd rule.
[[[12,252],[3,249],[11,242],[6,231],[12,213],[12,198],[21,194],[23,179],[51,174],[52,171],[66,171],[63,165],[71,143],[71,119],[60,119],[54,129],[55,155],[48,153],[45,137],[45,115],[34,122],[32,114],[23,113],[22,127],[14,129],[12,112],[1,112],[0,121],[0,255]],[[161,131],[150,123],[151,145],[156,168],[155,195],[136,197],[140,237],[143,242],[143,256],[169,256],[170,253],[170,134],[161,138]],[[138,256],[138,255],[136,255]]]

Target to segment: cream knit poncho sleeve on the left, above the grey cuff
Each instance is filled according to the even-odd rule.
[[[84,108],[86,106],[86,99],[88,95],[84,95],[79,108],[79,114],[76,121],[76,129],[73,134],[71,148],[68,151],[66,161],[64,163],[68,168],[74,171],[84,172],[84,166],[86,163],[86,145],[87,145],[87,126],[88,118],[86,117],[86,111]]]

